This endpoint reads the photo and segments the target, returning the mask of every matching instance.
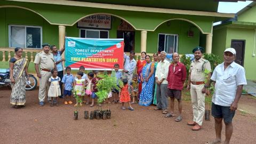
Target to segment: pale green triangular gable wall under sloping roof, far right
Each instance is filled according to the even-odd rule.
[[[256,22],[256,6],[249,8],[248,10],[244,11],[243,13],[239,14],[237,17],[238,21],[245,21],[245,22]]]

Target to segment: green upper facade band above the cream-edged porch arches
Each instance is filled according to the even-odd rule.
[[[170,13],[154,13],[154,12],[138,12],[124,11],[112,9],[99,9],[93,7],[67,6],[41,3],[24,3],[12,1],[0,1],[1,5],[14,5],[25,7],[41,14],[46,20],[54,23],[54,25],[73,25],[79,19],[86,15],[94,13],[109,13],[118,15],[132,23],[135,29],[154,30],[160,23],[170,19],[186,19],[193,21],[198,25],[204,33],[211,33],[212,21],[215,17],[207,17],[200,15],[170,14]],[[0,8],[2,9],[2,8]]]

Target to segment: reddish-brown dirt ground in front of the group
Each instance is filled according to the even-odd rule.
[[[191,131],[187,125],[193,117],[190,99],[183,99],[183,120],[165,118],[154,106],[133,105],[134,111],[121,110],[119,104],[110,105],[111,119],[84,119],[83,111],[92,111],[84,105],[78,120],[73,119],[74,106],[38,106],[38,90],[27,91],[26,107],[15,109],[10,105],[11,91],[0,88],[0,143],[205,143],[215,138],[214,119],[203,122],[201,131]],[[254,106],[256,99],[246,95],[241,103]],[[106,108],[103,105],[102,108]],[[175,103],[177,115],[177,102]],[[255,143],[256,116],[236,111],[234,133],[230,143]],[[225,126],[222,129],[225,138]]]

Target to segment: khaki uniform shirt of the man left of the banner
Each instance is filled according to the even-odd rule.
[[[54,57],[52,53],[46,54],[44,51],[36,54],[34,63],[38,64],[43,69],[54,69]]]

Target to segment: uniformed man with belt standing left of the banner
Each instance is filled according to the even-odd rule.
[[[39,106],[44,106],[46,86],[48,85],[48,80],[51,77],[51,70],[56,68],[53,54],[49,53],[50,44],[44,43],[42,46],[43,51],[36,54],[36,58],[34,61],[36,74],[37,77],[39,77]]]

